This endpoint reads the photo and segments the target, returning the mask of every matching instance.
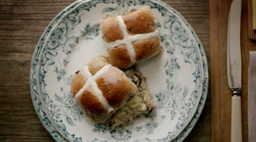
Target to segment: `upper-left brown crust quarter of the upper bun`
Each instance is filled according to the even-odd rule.
[[[106,43],[116,41],[117,39],[123,39],[124,34],[119,26],[116,17],[107,17],[100,23],[102,36]]]

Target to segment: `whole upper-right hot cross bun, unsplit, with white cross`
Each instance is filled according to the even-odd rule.
[[[100,29],[108,48],[109,62],[119,68],[130,67],[163,50],[148,7],[127,15],[107,17],[100,22]]]

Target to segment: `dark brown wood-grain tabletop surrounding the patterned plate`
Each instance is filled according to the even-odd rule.
[[[74,0],[0,1],[0,141],[54,141],[34,110],[30,62],[45,27]],[[209,64],[208,0],[165,0],[195,29]],[[209,85],[210,87],[210,85]],[[211,89],[204,111],[185,141],[211,141]]]

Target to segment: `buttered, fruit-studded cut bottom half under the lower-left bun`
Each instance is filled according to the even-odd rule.
[[[125,75],[138,87],[138,92],[113,114],[108,122],[110,127],[130,124],[133,118],[149,114],[156,107],[148,92],[145,78],[140,71],[136,67],[127,69]]]

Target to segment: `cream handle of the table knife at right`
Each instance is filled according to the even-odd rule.
[[[241,97],[232,96],[231,142],[242,142]]]

